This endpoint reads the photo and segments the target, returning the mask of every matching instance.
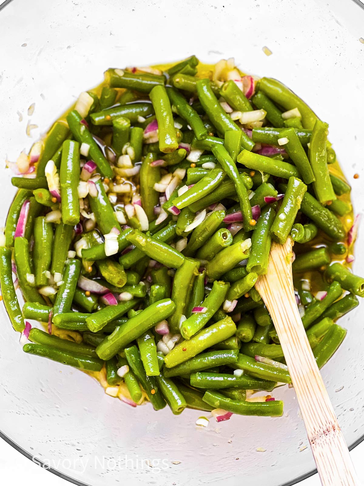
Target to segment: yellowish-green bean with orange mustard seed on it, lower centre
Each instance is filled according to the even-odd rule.
[[[186,321],[184,321],[186,322]],[[208,347],[214,346],[220,341],[231,337],[236,331],[236,326],[230,317],[226,317],[210,327],[200,330],[189,341],[183,341],[175,346],[165,356],[165,366],[171,368],[195,357]]]

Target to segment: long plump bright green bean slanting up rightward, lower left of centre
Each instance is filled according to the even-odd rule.
[[[100,358],[110,359],[116,355],[119,349],[127,346],[155,324],[169,317],[175,309],[176,306],[171,299],[163,299],[155,302],[147,307],[147,309],[144,309],[144,311],[129,319],[128,322],[122,324],[110,336],[105,338],[96,348],[96,352]],[[90,328],[90,318],[87,318],[86,322]],[[91,327],[94,328],[95,326],[92,325]]]

